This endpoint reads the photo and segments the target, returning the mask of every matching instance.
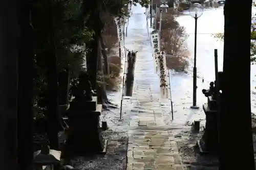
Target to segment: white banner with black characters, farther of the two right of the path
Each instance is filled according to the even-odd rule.
[[[159,41],[159,32],[157,30],[152,31],[151,33],[151,46],[153,48],[153,58],[155,60],[156,73],[159,72],[159,63],[157,55],[160,53],[160,41]]]

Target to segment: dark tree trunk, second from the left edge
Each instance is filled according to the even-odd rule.
[[[30,26],[30,3],[19,1],[19,57],[18,57],[18,154],[20,170],[32,170],[33,68],[34,54]]]

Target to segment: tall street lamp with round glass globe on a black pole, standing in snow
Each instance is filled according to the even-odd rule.
[[[201,4],[191,4],[189,14],[195,18],[195,48],[194,48],[194,68],[193,68],[193,106],[192,109],[199,109],[197,106],[197,19],[203,15],[204,8]]]

